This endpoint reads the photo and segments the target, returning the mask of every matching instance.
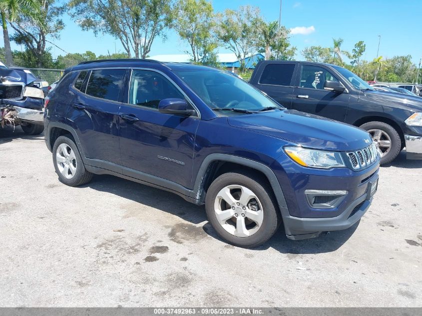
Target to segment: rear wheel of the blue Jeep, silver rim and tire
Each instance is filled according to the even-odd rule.
[[[72,139],[66,136],[58,137],[52,152],[54,169],[61,182],[74,187],[91,181],[92,173],[85,169],[79,150]]]

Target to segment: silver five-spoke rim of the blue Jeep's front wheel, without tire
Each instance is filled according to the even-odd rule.
[[[218,192],[214,201],[218,223],[236,237],[255,234],[264,220],[264,211],[258,197],[241,185],[229,185]]]

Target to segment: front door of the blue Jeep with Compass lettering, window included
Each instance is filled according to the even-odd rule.
[[[153,175],[189,188],[200,120],[160,113],[158,103],[166,98],[185,99],[185,95],[161,73],[132,70],[128,100],[119,111],[123,174]]]

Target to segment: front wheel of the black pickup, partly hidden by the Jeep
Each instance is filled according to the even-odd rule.
[[[402,150],[402,140],[397,130],[384,122],[368,122],[360,126],[371,134],[381,155],[381,164],[392,162]]]

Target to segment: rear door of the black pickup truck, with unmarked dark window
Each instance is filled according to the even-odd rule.
[[[268,96],[276,100],[286,108],[291,108],[293,97],[293,82],[295,69],[298,63],[267,63],[262,64],[264,69],[257,69],[261,72],[256,86]]]

